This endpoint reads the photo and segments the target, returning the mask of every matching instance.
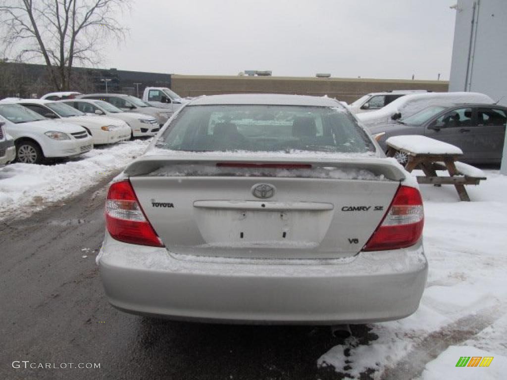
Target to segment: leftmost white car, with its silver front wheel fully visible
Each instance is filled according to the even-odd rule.
[[[19,104],[1,102],[0,122],[14,138],[16,157],[25,164],[45,158],[71,157],[93,148],[92,137],[80,126],[47,120]]]

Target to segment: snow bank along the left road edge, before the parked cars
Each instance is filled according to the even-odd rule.
[[[0,220],[29,215],[48,202],[85,191],[143,153],[148,140],[133,140],[93,149],[57,165],[11,164],[0,168]]]

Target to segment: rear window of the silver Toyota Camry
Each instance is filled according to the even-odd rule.
[[[185,107],[157,146],[185,151],[375,150],[343,109],[280,105]]]

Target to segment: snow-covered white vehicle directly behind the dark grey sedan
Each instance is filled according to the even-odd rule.
[[[405,95],[385,107],[372,112],[358,113],[355,117],[365,126],[394,123],[408,118],[430,105],[453,105],[462,103],[492,104],[494,100],[479,92],[428,92]]]

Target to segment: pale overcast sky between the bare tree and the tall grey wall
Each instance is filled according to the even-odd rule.
[[[456,0],[134,0],[102,66],[449,79]]]

